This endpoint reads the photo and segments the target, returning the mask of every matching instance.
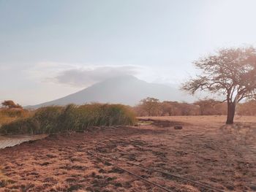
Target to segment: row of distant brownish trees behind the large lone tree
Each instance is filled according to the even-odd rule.
[[[192,104],[148,97],[133,107],[138,116],[227,115],[227,103],[201,99]],[[237,115],[256,115],[256,100],[238,104]]]

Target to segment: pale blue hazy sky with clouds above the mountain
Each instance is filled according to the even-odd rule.
[[[132,74],[180,85],[192,62],[256,45],[255,0],[0,0],[0,101],[39,104]]]

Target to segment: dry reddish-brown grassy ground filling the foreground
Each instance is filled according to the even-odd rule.
[[[0,150],[0,191],[163,191],[103,163],[89,150],[222,191],[256,191],[255,117],[238,117],[233,127],[223,126],[222,116],[140,119],[143,123],[137,127],[52,135]],[[173,128],[176,125],[183,128]],[[170,191],[212,191],[108,160]]]

